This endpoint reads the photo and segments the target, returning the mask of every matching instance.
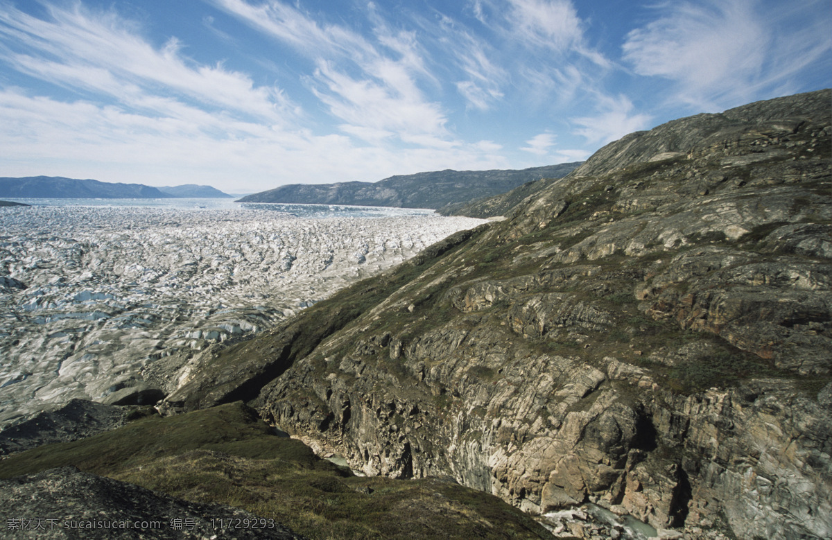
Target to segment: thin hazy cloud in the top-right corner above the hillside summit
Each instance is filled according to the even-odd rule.
[[[792,78],[832,51],[828,2],[664,2],[632,30],[624,59],[636,73],[676,82],[671,100],[721,110],[794,91]],[[825,62],[827,68],[830,62]],[[779,89],[779,90],[778,90]]]

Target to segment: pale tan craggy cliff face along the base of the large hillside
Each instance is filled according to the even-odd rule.
[[[828,396],[779,379],[680,395],[612,357],[503,351],[458,329],[424,340],[432,357],[417,344],[392,373],[372,356],[294,369],[260,406],[364,473],[451,473],[533,513],[592,501],[693,528],[720,508],[743,538],[832,533]]]

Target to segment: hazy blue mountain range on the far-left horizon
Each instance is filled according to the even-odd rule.
[[[0,177],[0,197],[12,199],[172,199],[230,197],[210,186],[151,187],[62,176]]]

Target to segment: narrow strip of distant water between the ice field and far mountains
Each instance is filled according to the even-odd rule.
[[[240,203],[234,199],[9,199],[30,206],[98,206],[104,208],[165,208],[171,210],[266,210],[302,218],[428,216],[433,210],[387,206]]]

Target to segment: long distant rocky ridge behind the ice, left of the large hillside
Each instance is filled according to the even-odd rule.
[[[433,171],[390,176],[382,181],[292,184],[262,191],[240,202],[433,208],[494,196],[541,178],[560,178],[580,162],[532,167],[522,171]]]

